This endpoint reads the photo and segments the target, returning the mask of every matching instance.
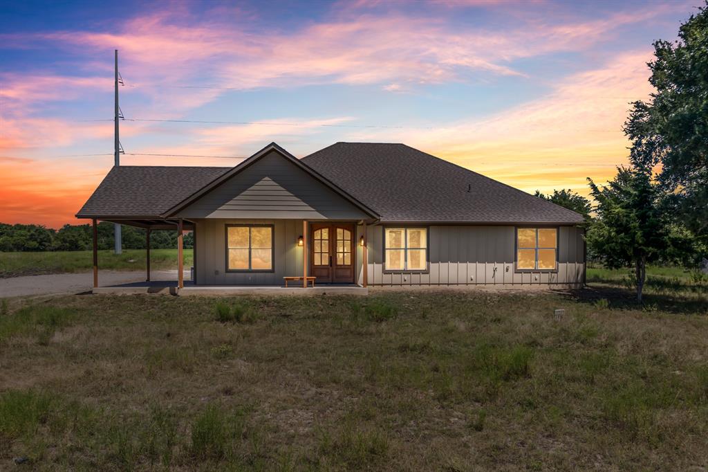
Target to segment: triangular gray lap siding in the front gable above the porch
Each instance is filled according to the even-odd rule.
[[[353,203],[275,151],[253,162],[176,216],[307,220],[368,218]]]

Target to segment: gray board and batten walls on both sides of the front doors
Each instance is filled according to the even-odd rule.
[[[196,264],[200,285],[281,285],[284,276],[302,275],[302,220],[197,220]],[[275,226],[275,271],[273,273],[227,273],[224,227],[230,223],[273,224]],[[585,249],[583,231],[559,228],[558,271],[554,273],[514,271],[513,226],[430,226],[429,270],[425,274],[383,271],[383,229],[367,227],[368,282],[372,286],[447,285],[578,285],[583,283]],[[355,274],[363,281],[362,254],[358,245],[362,226],[357,227]]]

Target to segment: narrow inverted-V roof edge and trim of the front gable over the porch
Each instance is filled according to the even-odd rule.
[[[209,184],[203,186],[201,189],[198,189],[198,191],[195,191],[187,198],[184,198],[182,201],[179,201],[172,208],[169,208],[169,210],[166,210],[164,212],[164,216],[169,217],[171,215],[174,215],[176,212],[178,212],[178,210],[181,210],[181,208],[185,208],[190,203],[197,201],[200,197],[204,196],[205,193],[212,191],[217,186],[219,186],[220,184],[223,184],[228,179],[231,179],[236,174],[239,174],[239,172],[246,169],[246,167],[249,167],[251,164],[258,162],[258,159],[263,158],[266,154],[268,154],[272,151],[278,152],[278,154],[280,154],[282,157],[284,157],[285,159],[288,159],[290,162],[295,164],[297,167],[304,170],[304,172],[307,172],[307,174],[310,174],[311,176],[313,176],[314,179],[317,179],[322,184],[324,184],[325,186],[332,189],[339,196],[342,196],[350,203],[353,203],[354,206],[356,206],[357,208],[360,208],[360,210],[363,210],[364,213],[370,215],[372,218],[378,218],[377,213],[374,210],[372,210],[369,206],[365,205],[357,198],[351,196],[346,191],[343,191],[343,189],[341,189],[341,187],[337,186],[336,184],[333,184],[331,181],[329,181],[329,179],[326,179],[326,177],[322,176],[321,174],[316,172],[314,169],[311,169],[307,165],[303,164],[300,159],[297,159],[297,157],[293,156],[292,154],[290,154],[290,152],[287,152],[282,147],[275,144],[275,142],[271,142],[269,145],[263,147],[262,150],[256,152],[256,154],[253,154],[251,157],[246,159],[244,162],[241,162],[241,164],[237,165],[233,169],[230,169],[228,172],[225,172],[224,174],[218,176],[216,179],[211,181]]]

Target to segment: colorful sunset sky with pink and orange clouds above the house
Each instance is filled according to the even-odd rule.
[[[587,194],[627,162],[651,43],[700,4],[1,0],[0,222],[82,223],[113,165],[114,49],[122,164],[404,142],[525,191]]]

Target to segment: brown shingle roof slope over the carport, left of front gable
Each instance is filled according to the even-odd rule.
[[[77,218],[158,217],[232,167],[113,167]]]

